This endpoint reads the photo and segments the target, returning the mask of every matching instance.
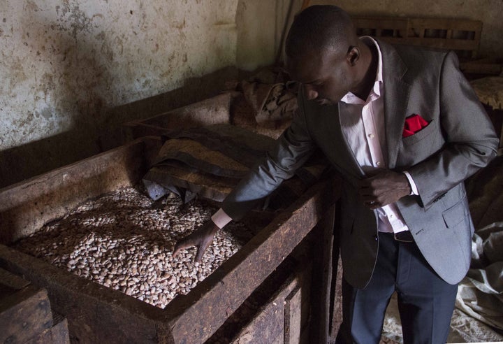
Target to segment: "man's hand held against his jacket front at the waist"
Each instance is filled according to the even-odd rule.
[[[404,173],[381,169],[369,178],[360,180],[358,194],[363,203],[374,210],[396,202],[411,193]]]

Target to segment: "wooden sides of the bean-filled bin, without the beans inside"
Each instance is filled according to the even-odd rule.
[[[0,189],[1,242],[12,243],[34,233],[82,201],[136,185],[160,145],[159,138],[141,138]],[[0,245],[0,266],[47,289],[54,310],[67,317],[74,341],[203,343],[309,234],[337,196],[331,182],[314,185],[166,309],[80,278],[7,245]]]

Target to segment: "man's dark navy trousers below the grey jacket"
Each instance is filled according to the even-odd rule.
[[[379,233],[369,284],[357,289],[342,280],[342,324],[336,343],[379,343],[393,292],[398,295],[404,343],[446,343],[458,285],[439,278],[416,243]]]

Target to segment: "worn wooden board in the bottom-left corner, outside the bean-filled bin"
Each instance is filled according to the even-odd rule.
[[[52,327],[45,289],[24,287],[0,301],[0,343],[24,343]]]

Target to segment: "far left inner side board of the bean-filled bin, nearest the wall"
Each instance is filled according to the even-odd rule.
[[[0,189],[0,243],[29,236],[85,199],[137,182],[150,167],[160,143],[159,138],[138,139]]]

